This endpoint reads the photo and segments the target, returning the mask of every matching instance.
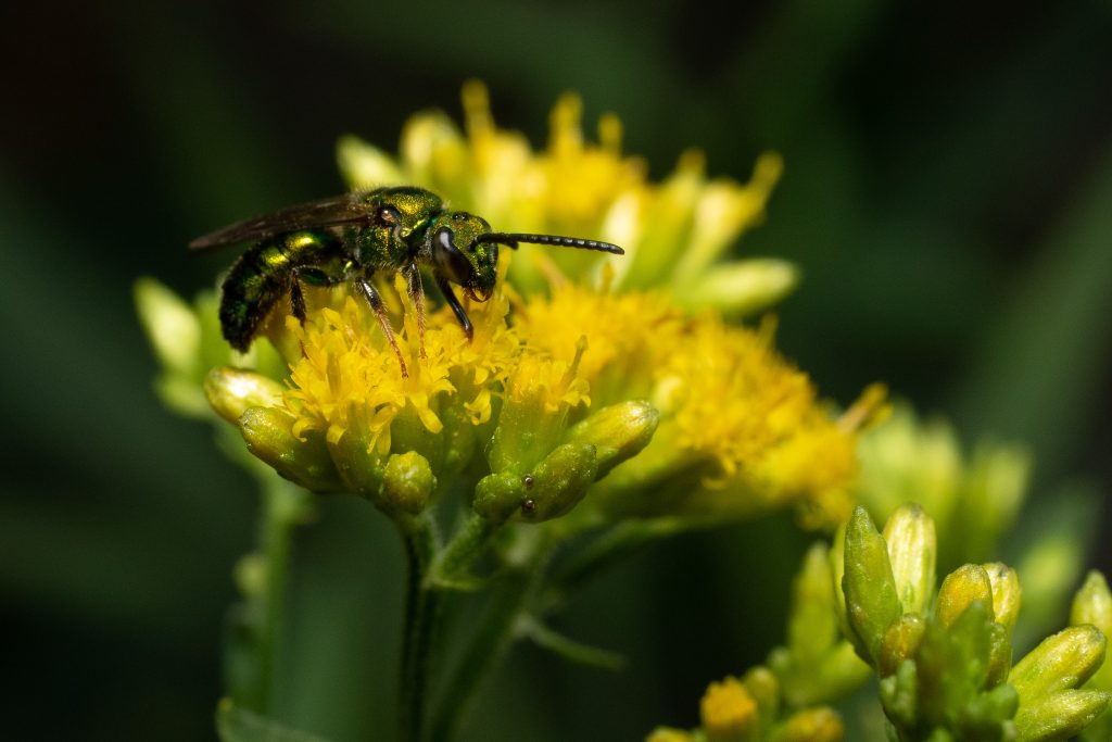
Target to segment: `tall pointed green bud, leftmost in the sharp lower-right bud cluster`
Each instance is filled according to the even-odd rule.
[[[850,627],[866,652],[862,659],[875,666],[884,633],[900,617],[900,598],[887,544],[860,505],[846,525],[842,585]]]

